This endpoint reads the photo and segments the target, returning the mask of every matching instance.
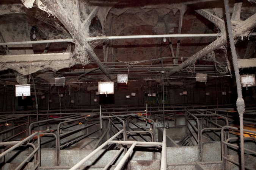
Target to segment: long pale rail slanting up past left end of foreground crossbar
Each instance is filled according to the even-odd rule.
[[[88,161],[88,159],[90,159],[92,156],[94,156],[99,150],[101,150],[102,148],[104,148],[106,145],[109,144],[109,141],[112,141],[113,139],[115,139],[119,134],[123,133],[123,129],[120,130],[118,133],[116,133],[114,136],[112,136],[110,139],[108,139],[106,142],[104,142],[104,144],[102,144],[101,146],[99,146],[98,148],[96,148],[94,151],[92,151],[89,155],[87,155],[85,158],[83,158],[81,161],[79,161],[77,164],[75,164],[72,168],[70,168],[69,170],[76,170],[77,168],[81,167],[86,161]]]

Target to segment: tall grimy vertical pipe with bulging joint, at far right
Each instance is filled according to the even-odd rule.
[[[245,111],[245,102],[243,100],[242,96],[242,87],[241,87],[241,81],[240,81],[240,75],[239,75],[239,69],[237,66],[237,55],[236,55],[236,48],[235,43],[233,39],[233,32],[232,32],[232,26],[231,26],[231,19],[229,14],[229,5],[228,0],[224,1],[225,3],[225,12],[226,12],[226,19],[227,19],[227,26],[228,26],[228,37],[229,37],[229,43],[232,53],[232,61],[233,66],[235,70],[236,75],[236,86],[237,86],[237,111],[239,113],[239,122],[240,122],[240,150],[241,150],[241,170],[245,169],[245,157],[244,157],[244,142],[243,142],[243,113]]]

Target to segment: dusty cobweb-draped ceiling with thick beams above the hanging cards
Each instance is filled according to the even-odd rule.
[[[67,82],[98,82],[115,81],[116,74],[129,74],[129,80],[230,75],[223,5],[221,0],[2,0],[1,43],[67,40],[0,46],[1,84],[25,83],[32,74],[39,83],[62,76]],[[255,58],[255,36],[249,34],[256,26],[256,2],[229,5],[237,54]],[[90,40],[157,34],[221,37]]]

